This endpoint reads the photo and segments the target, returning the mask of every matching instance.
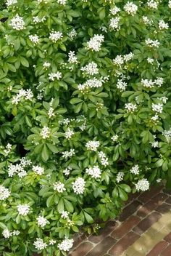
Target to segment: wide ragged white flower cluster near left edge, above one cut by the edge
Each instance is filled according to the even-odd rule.
[[[29,167],[31,164],[30,160],[25,159],[23,157],[20,159],[20,164],[9,164],[8,167],[8,175],[9,177],[13,177],[14,175],[18,175],[19,177],[25,177],[27,175],[27,172],[25,171],[25,167]]]

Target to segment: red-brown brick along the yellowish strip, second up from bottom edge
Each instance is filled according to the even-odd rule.
[[[140,223],[138,223],[138,225],[135,226],[135,228],[133,228],[133,231],[135,231],[138,234],[142,234],[143,232],[145,232],[151,225],[153,225],[154,223],[157,222],[157,220],[159,220],[159,218],[162,215],[159,212],[152,212],[150,215],[148,215],[145,219],[141,220]]]

